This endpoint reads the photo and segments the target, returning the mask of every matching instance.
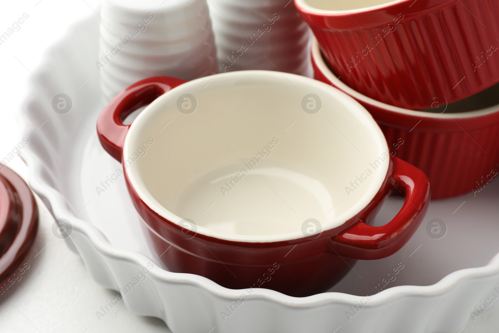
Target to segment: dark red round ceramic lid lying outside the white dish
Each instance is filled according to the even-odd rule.
[[[22,265],[37,230],[38,209],[33,193],[15,172],[0,164],[1,285]]]

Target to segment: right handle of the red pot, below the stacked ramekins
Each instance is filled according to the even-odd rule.
[[[332,237],[333,253],[360,260],[389,257],[418,229],[430,203],[430,181],[421,170],[397,157],[393,157],[391,163],[393,170],[387,186],[392,191],[384,193],[388,196],[393,191],[400,191],[405,197],[404,206],[384,226],[373,227],[359,221]]]

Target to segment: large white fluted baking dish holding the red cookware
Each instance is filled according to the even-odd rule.
[[[96,15],[77,23],[34,72],[47,88],[33,78],[20,112],[24,135],[32,138],[23,156],[33,190],[55,218],[72,224],[66,239],[70,248],[98,284],[122,293],[131,312],[160,318],[174,333],[457,333],[465,325],[461,333],[492,332],[473,326],[471,316],[492,294],[499,295],[497,181],[475,196],[432,202],[401,251],[358,262],[330,293],[292,298],[262,285],[250,295],[157,266],[124,180],[115,177],[121,166],[96,138],[99,84],[89,80],[78,88],[81,77],[98,75],[98,26]],[[66,114],[51,106],[61,92],[73,103]],[[97,191],[108,177],[116,179]],[[391,200],[385,207],[379,221],[393,216],[400,202]],[[427,233],[436,218],[447,225],[441,239]],[[148,267],[147,279],[135,279]]]

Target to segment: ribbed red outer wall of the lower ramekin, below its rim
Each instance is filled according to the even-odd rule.
[[[395,156],[428,175],[432,199],[478,191],[491,180],[493,169],[499,171],[499,124],[466,132],[458,126],[456,131],[433,132],[378,124],[389,146],[404,140]]]

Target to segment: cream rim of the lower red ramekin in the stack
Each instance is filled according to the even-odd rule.
[[[476,111],[468,111],[468,112],[454,112],[454,113],[445,113],[445,107],[446,105],[441,105],[438,108],[435,108],[434,112],[430,111],[416,111],[416,110],[408,110],[404,109],[401,107],[393,106],[390,104],[385,104],[380,101],[377,101],[375,99],[372,99],[370,97],[367,97],[357,90],[349,87],[347,84],[345,84],[341,78],[338,78],[327,66],[326,62],[324,61],[324,58],[322,57],[322,52],[320,50],[319,43],[315,37],[312,37],[312,43],[311,43],[311,52],[312,52],[312,59],[316,66],[319,68],[321,73],[326,76],[326,78],[334,84],[334,86],[338,87],[340,90],[346,92],[350,96],[356,98],[357,100],[360,100],[362,102],[365,102],[367,104],[374,105],[380,109],[384,110],[389,110],[393,112],[398,112],[398,113],[404,113],[408,115],[412,115],[415,117],[419,118],[437,118],[437,119],[462,119],[462,118],[472,118],[472,117],[478,117],[494,112],[499,111],[499,105],[494,105],[488,108],[484,108],[481,110],[476,110]]]

